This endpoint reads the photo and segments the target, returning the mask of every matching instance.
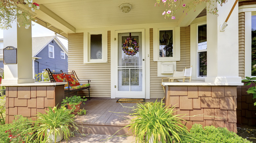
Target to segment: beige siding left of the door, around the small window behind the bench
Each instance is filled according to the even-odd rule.
[[[91,97],[111,97],[110,31],[108,31],[108,63],[83,64],[83,33],[68,35],[68,67],[75,70],[81,84],[91,80]]]

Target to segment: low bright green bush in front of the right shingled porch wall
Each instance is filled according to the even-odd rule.
[[[190,132],[182,132],[181,140],[183,143],[250,143],[230,132],[227,128],[215,128],[214,126],[203,126],[194,124]]]

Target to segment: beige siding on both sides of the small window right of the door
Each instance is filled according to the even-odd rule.
[[[157,62],[153,61],[153,28],[150,32],[150,98],[164,96],[161,77],[157,77]],[[190,66],[190,26],[181,27],[181,61],[177,61],[177,71]],[[165,80],[164,82],[168,82]]]

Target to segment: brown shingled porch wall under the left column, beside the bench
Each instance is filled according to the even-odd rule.
[[[64,86],[6,87],[6,120],[9,124],[15,115],[35,120],[36,112],[46,113],[48,107],[60,105]]]

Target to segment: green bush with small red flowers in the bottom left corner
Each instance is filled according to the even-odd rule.
[[[32,136],[31,119],[18,115],[11,124],[1,125],[0,143],[25,143],[27,138]],[[35,143],[31,140],[30,143]]]

